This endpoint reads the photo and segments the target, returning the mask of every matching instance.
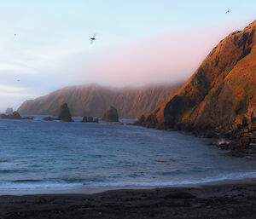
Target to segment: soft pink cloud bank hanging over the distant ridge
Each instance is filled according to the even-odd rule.
[[[185,80],[221,39],[243,27],[243,22],[230,22],[148,37],[92,55],[90,64],[86,61],[75,75],[82,84],[96,82],[115,86]]]

